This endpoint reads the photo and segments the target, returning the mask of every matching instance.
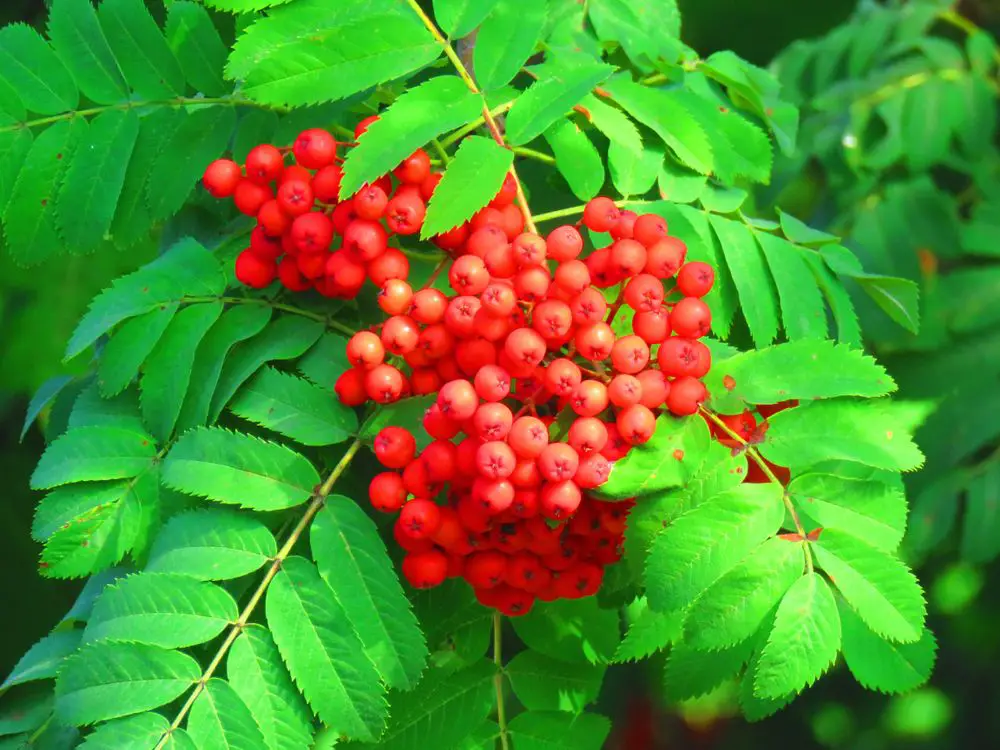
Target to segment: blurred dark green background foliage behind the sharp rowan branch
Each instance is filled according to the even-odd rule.
[[[162,11],[162,5],[150,5]],[[871,0],[679,0],[685,41],[774,65],[802,107],[799,152],[776,164],[754,210],[774,206],[843,238],[866,271],[922,291],[908,334],[856,297],[869,346],[903,395],[940,401],[923,428],[927,469],[910,484],[906,544],[930,598],[939,641],[930,685],[865,693],[843,670],[757,725],[735,718],[725,688],[668,706],[656,665],[609,673],[602,710],[617,748],[986,748],[1000,737],[1000,155],[995,39],[1000,0],[954,7]],[[159,6],[159,8],[155,7]],[[920,10],[921,8],[930,10]],[[912,11],[912,12],[911,12]],[[43,0],[3,0],[0,24],[44,26]],[[919,126],[901,130],[907,122]],[[914,112],[919,117],[914,118]],[[197,225],[198,209],[171,233]],[[152,257],[164,238],[127,252],[69,257],[25,270],[0,256],[0,545],[8,608],[0,671],[66,611],[80,584],[41,579],[29,529],[28,477],[44,443],[21,440],[25,408],[63,363],[64,343],[93,295]]]

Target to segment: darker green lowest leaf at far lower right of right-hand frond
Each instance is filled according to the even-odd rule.
[[[857,613],[841,603],[844,661],[863,687],[882,693],[905,693],[930,679],[937,643],[924,628],[915,643],[890,643],[873,633]]]

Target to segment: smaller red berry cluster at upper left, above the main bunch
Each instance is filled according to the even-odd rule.
[[[375,119],[362,120],[355,138]],[[229,159],[208,166],[202,178],[208,192],[231,197],[241,213],[257,219],[250,246],[236,259],[240,282],[262,289],[277,278],[294,292],[315,289],[351,299],[366,279],[381,288],[407,278],[409,261],[388,243],[394,234],[420,231],[441,175],[418,149],[391,175],[339,201],[343,159],[337,149],[347,145],[314,128],[300,133],[290,149],[254,147],[243,167]],[[294,164],[286,161],[289,152]]]

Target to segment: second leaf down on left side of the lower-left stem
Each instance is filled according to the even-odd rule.
[[[164,524],[145,569],[224,581],[253,573],[276,552],[274,536],[260,521],[245,513],[203,508]]]

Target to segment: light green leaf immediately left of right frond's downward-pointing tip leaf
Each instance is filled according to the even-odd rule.
[[[804,562],[802,543],[768,539],[695,600],[684,642],[711,651],[747,640],[802,576]]]

